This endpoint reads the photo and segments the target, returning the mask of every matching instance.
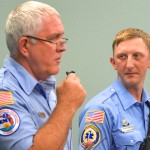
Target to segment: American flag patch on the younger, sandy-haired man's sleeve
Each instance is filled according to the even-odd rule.
[[[85,122],[103,123],[104,116],[105,116],[105,112],[103,111],[88,111],[86,114]]]

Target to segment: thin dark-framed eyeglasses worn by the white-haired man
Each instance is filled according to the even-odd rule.
[[[62,38],[61,42],[53,42],[52,40],[41,39],[41,38],[30,36],[30,35],[26,35],[24,37],[28,37],[28,38],[32,38],[32,39],[35,39],[35,40],[39,40],[39,41],[44,41],[44,42],[48,42],[48,43],[51,43],[51,44],[55,44],[57,46],[57,48],[58,48],[58,46],[62,46],[63,44],[66,44],[67,41],[68,41],[67,38]]]

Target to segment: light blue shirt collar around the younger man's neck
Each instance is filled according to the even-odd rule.
[[[119,81],[118,78],[114,81],[113,87],[125,110],[131,107],[132,105],[134,105],[135,103],[137,103],[136,99],[128,92],[128,90],[124,87],[124,85]],[[145,89],[143,89],[142,101],[146,102],[147,100],[149,100],[149,96],[147,92],[145,91]]]

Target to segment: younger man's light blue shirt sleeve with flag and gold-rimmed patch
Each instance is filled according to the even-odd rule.
[[[94,150],[110,149],[111,116],[100,106],[90,106],[84,109],[79,119],[79,150],[84,150],[85,143],[92,139]]]

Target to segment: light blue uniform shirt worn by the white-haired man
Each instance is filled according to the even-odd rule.
[[[55,78],[51,76],[40,83],[46,99],[36,89],[37,83],[26,69],[6,57],[0,70],[0,150],[28,150],[37,130],[49,119],[57,102],[53,91]],[[11,99],[8,91],[12,93],[14,104],[4,105],[2,101],[7,103]],[[6,127],[8,124],[11,128]],[[64,150],[72,149],[71,132],[70,129]]]

